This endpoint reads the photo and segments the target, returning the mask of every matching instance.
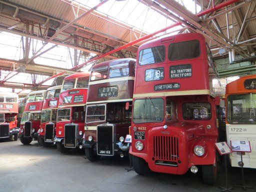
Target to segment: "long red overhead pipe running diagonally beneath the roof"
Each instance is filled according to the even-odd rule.
[[[222,2],[222,3],[219,3],[219,4],[215,5],[214,7],[207,8],[207,9],[205,9],[205,10],[203,10],[203,11],[197,13],[196,16],[202,16],[202,15],[204,15],[204,14],[213,12],[213,11],[215,11],[215,10],[217,10],[217,9],[223,8],[223,7],[225,7],[225,6],[229,5],[229,4],[232,4],[232,3],[237,2],[237,1],[239,1],[239,0],[227,0],[227,1],[225,1],[225,2]],[[98,60],[98,59],[100,59],[100,58],[103,58],[103,57],[105,57],[105,56],[107,56],[107,55],[109,55],[109,54],[112,54],[112,53],[114,53],[114,52],[117,52],[117,51],[119,51],[119,50],[122,50],[123,48],[132,46],[132,45],[134,45],[135,43],[138,43],[138,42],[141,42],[142,40],[148,39],[148,38],[152,37],[152,36],[155,35],[155,34],[158,34],[158,33],[160,33],[160,32],[163,32],[163,31],[165,31],[165,30],[167,30],[167,29],[173,28],[173,27],[178,26],[178,25],[181,25],[181,24],[182,24],[181,22],[175,22],[175,23],[171,24],[170,26],[167,26],[167,27],[162,28],[162,29],[160,29],[160,30],[157,30],[157,31],[155,31],[155,32],[153,32],[153,33],[147,34],[147,35],[145,35],[145,36],[143,36],[143,37],[141,37],[141,38],[138,38],[138,39],[136,39],[136,40],[133,40],[133,41],[131,41],[131,42],[128,42],[128,43],[126,43],[126,44],[124,44],[124,45],[122,45],[122,46],[120,46],[120,47],[118,47],[118,48],[115,48],[115,49],[109,51],[109,52],[106,52],[106,53],[101,54],[101,55],[99,55],[99,56],[95,56],[95,57],[93,57],[92,59],[89,59],[88,61],[86,61],[86,62],[84,62],[84,63],[81,63],[81,64],[79,64],[79,65],[76,65],[76,66],[72,67],[71,69],[72,69],[72,70],[78,70],[79,68],[83,67],[83,66],[86,65],[87,63],[92,62],[93,60]]]

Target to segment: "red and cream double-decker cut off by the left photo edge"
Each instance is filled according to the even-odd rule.
[[[17,127],[18,95],[14,92],[0,92],[0,139],[18,138]]]

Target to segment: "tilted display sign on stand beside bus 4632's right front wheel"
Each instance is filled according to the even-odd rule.
[[[225,162],[225,187],[223,186],[219,186],[222,190],[221,191],[232,191],[233,187],[229,187],[228,188],[228,184],[227,184],[227,158],[226,156],[231,153],[231,149],[229,148],[229,146],[227,145],[226,142],[216,142],[215,146],[219,152],[220,155],[224,155],[224,162]]]

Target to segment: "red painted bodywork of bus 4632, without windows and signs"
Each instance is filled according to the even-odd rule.
[[[167,55],[169,44],[194,39],[197,39],[200,43],[200,55],[198,57],[173,61],[168,60]],[[176,121],[167,121],[164,117],[161,122],[131,122],[132,128],[130,132],[132,135],[132,144],[129,149],[129,153],[143,158],[148,163],[149,168],[153,171],[171,174],[184,174],[192,165],[215,164],[216,162],[214,143],[218,139],[216,105],[218,105],[219,99],[217,97],[214,98],[209,94],[212,90],[212,76],[209,77],[209,63],[207,60],[205,44],[206,42],[203,35],[198,33],[183,33],[146,42],[138,49],[139,54],[139,51],[142,49],[164,45],[165,60],[154,64],[139,65],[139,56],[137,55],[133,103],[136,99],[145,99],[148,98],[148,96],[150,98],[163,98],[163,111],[166,111],[166,98],[177,103]],[[179,64],[191,64],[192,76],[171,79],[169,77],[169,67]],[[145,81],[145,70],[156,67],[164,67],[164,78],[162,80]],[[180,87],[178,89],[154,90],[154,85],[165,83],[179,83]],[[204,94],[201,94],[199,92],[200,90],[206,90],[206,92],[208,90],[209,93],[207,94],[204,91]],[[185,91],[188,91],[188,93]],[[146,95],[146,93],[149,94]],[[209,102],[211,104],[211,118],[209,120],[185,120],[182,114],[182,104],[185,102]],[[163,125],[167,125],[167,128],[164,129]],[[207,129],[206,125],[210,125],[211,128]],[[146,127],[146,130],[143,130],[145,131],[145,140],[140,140],[144,144],[141,151],[135,148],[135,142],[138,141],[138,139],[134,139],[134,126],[136,128],[141,126]],[[153,136],[174,136],[178,138],[178,146],[176,146],[177,148],[175,150],[179,151],[179,158],[166,160],[154,155]],[[162,143],[164,143],[164,141],[162,141]],[[195,145],[201,145],[204,147],[205,153],[202,156],[194,154],[193,147]],[[169,154],[168,152],[171,149],[169,149],[167,145],[165,145],[165,147],[165,151],[161,152]],[[176,163],[177,166],[155,164],[156,160],[172,161]]]

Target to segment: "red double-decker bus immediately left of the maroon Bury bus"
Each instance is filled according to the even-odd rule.
[[[54,139],[60,152],[82,148],[88,80],[89,72],[71,74],[63,80]]]

